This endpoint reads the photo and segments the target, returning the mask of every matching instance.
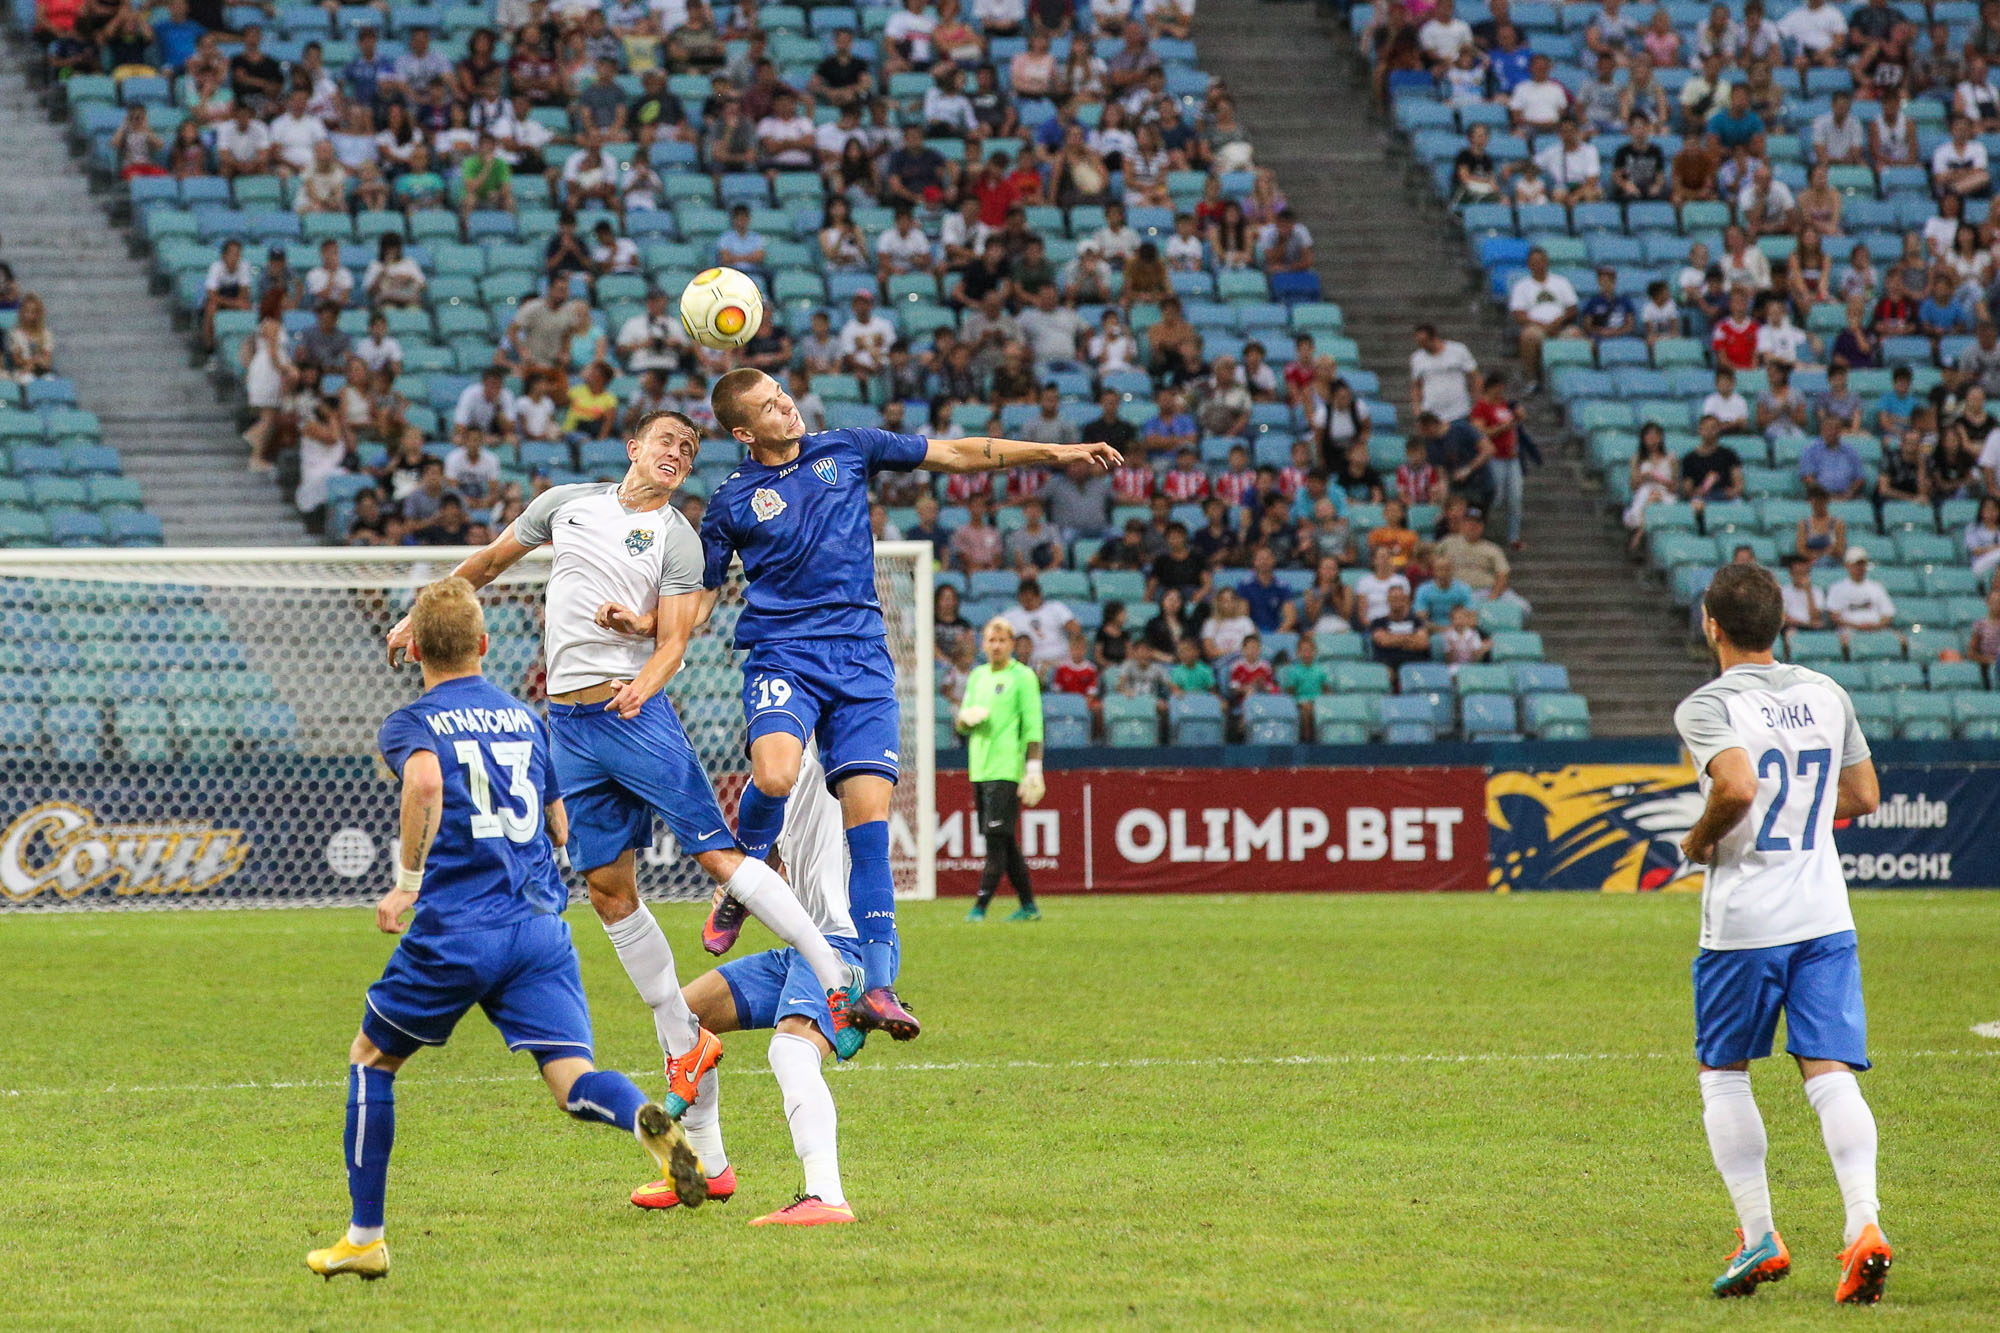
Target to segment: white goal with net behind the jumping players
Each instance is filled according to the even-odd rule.
[[[0,909],[364,903],[394,877],[382,719],[422,691],[390,624],[464,550],[0,550]],[[480,598],[486,675],[542,703],[546,552]],[[876,546],[902,703],[900,897],[934,897],[930,546]],[[734,819],[748,781],[732,572],[666,693]],[[708,877],[656,821],[650,899]],[[580,877],[572,893],[582,895]]]

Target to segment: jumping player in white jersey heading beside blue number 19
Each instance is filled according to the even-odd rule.
[[[626,442],[632,466],[624,480],[544,490],[454,570],[480,588],[536,546],[554,546],[544,658],[556,781],[570,811],[570,863],[584,873],[618,961],[652,1007],[670,1085],[662,1103],[676,1117],[692,1105],[702,1073],[722,1059],[722,1043],[682,1003],[674,951],[638,899],[634,853],[652,845],[654,815],[730,897],[798,949],[822,991],[838,993],[830,1005],[836,1039],[844,1053],[860,1049],[860,1031],[846,1023],[852,995],[860,995],[858,977],[784,881],[762,859],[738,851],[714,785],[660,693],[680,673],[710,602],[702,592],[700,538],[672,506],[696,452],[700,432],[692,420],[650,412]],[[632,632],[636,616],[644,618],[644,636]],[[392,666],[408,644],[406,616],[388,636]]]

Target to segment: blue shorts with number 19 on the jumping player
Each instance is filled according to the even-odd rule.
[[[778,638],[744,662],[750,741],[774,731],[820,743],[826,791],[856,773],[898,777],[896,662],[880,638]]]

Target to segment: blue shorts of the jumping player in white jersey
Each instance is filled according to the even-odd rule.
[[[570,865],[594,871],[652,847],[658,815],[688,857],[736,847],[716,789],[666,695],[630,723],[594,705],[548,705],[550,755],[570,815]]]

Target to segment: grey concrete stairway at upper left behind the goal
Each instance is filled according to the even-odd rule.
[[[172,308],[30,86],[24,50],[16,34],[0,40],[0,256],[48,302],[58,368],[104,422],[170,546],[308,542],[270,474],[244,470],[236,410],[190,366]]]

